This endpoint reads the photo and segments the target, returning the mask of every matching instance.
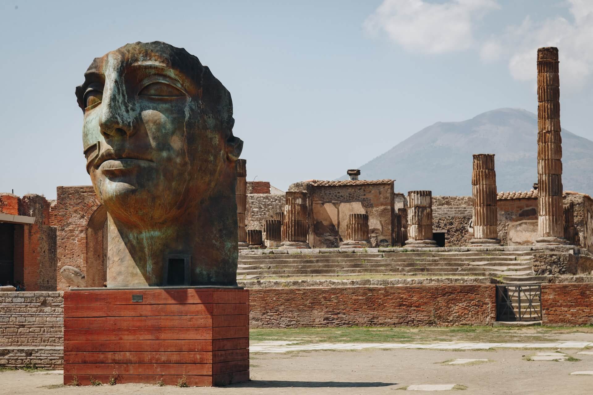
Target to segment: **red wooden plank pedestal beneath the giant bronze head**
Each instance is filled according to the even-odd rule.
[[[240,288],[65,291],[64,384],[247,381],[248,301]]]

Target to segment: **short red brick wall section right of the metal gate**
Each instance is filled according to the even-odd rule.
[[[593,324],[593,284],[541,285],[543,325]]]

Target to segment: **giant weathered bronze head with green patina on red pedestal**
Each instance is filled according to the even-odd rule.
[[[108,213],[108,287],[236,285],[231,95],[197,57],[155,41],[98,57],[76,88]]]

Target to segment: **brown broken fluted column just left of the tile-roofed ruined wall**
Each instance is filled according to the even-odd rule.
[[[286,240],[280,248],[310,248],[307,243],[307,192],[286,192]]]

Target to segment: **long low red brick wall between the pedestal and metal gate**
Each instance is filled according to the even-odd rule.
[[[493,284],[250,291],[251,327],[492,325]]]

